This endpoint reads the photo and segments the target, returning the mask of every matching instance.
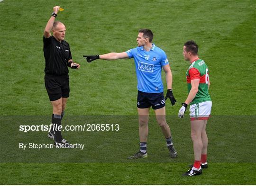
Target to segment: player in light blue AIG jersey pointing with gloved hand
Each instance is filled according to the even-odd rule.
[[[122,53],[107,53],[103,55],[83,55],[87,62],[96,59],[117,60],[134,58],[137,74],[137,112],[139,115],[140,150],[128,159],[146,158],[146,141],[148,136],[149,109],[155,110],[157,123],[162,129],[171,158],[176,158],[171,130],[165,120],[165,100],[169,97],[172,105],[176,100],[172,90],[172,71],[165,52],[152,43],[153,33],[149,29],[140,29],[136,48]],[[164,97],[164,86],[161,78],[162,68],[166,74],[167,94]]]

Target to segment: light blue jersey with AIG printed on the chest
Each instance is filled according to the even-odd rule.
[[[165,52],[153,44],[148,52],[140,46],[126,53],[129,58],[134,58],[138,90],[148,93],[164,92],[161,78],[162,66],[169,64]]]

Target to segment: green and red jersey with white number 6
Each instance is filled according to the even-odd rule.
[[[191,80],[200,79],[198,92],[190,105],[211,100],[208,92],[209,70],[203,60],[196,59],[191,62],[190,67],[186,72],[186,78],[188,83],[188,92],[191,90]]]

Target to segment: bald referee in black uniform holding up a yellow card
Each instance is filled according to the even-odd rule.
[[[53,8],[51,18],[44,31],[44,56],[46,59],[45,85],[51,104],[53,106],[52,124],[61,125],[67,99],[69,97],[68,68],[79,69],[80,65],[73,62],[69,44],[64,41],[66,28],[63,23],[56,21],[59,6]],[[51,35],[51,30],[53,35]],[[60,130],[52,127],[48,137],[54,139],[54,144],[66,148],[69,143],[63,139]]]

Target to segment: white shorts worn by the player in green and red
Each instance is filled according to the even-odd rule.
[[[208,120],[210,117],[211,101],[193,104],[189,107],[190,120]]]

